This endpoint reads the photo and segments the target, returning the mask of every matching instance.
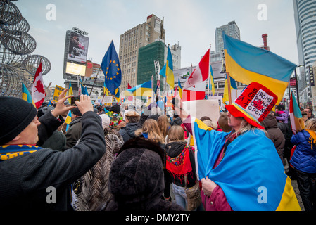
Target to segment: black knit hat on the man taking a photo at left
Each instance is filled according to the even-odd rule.
[[[20,98],[0,97],[0,145],[12,141],[37,116],[37,109]]]

